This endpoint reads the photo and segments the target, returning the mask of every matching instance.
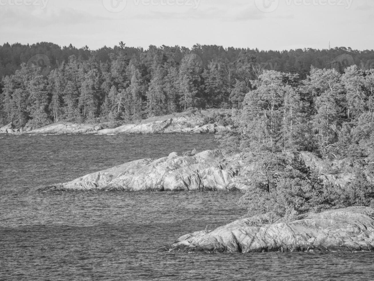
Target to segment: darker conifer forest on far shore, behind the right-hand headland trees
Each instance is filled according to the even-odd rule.
[[[38,54],[43,59],[34,61]],[[194,45],[144,50],[120,42],[91,51],[46,42],[6,43],[0,46],[0,123],[40,127],[61,120],[129,121],[190,107],[242,108],[264,70],[297,73],[289,82],[299,83],[311,66],[336,69],[340,75],[352,64],[369,69],[371,58],[374,51],[350,48],[259,51]],[[354,106],[349,110],[355,111]],[[331,135],[321,131],[321,142]],[[285,145],[291,141],[289,135]]]

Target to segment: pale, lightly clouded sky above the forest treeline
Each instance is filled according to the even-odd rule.
[[[0,44],[374,49],[372,0],[0,0]]]

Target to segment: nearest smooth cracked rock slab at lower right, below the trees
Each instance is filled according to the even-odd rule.
[[[308,213],[300,220],[251,226],[244,218],[211,231],[182,236],[168,251],[373,251],[374,209],[351,207]]]

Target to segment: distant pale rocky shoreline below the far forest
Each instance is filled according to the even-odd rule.
[[[40,129],[15,128],[12,123],[0,128],[3,134],[30,135],[116,135],[116,134],[166,134],[166,133],[217,133],[230,129],[222,125],[221,118],[230,118],[229,110],[208,109],[189,111],[162,117],[153,117],[134,124],[98,123],[75,124],[53,123]]]

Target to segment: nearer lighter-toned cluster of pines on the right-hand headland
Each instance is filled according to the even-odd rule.
[[[254,167],[240,183],[248,188],[241,200],[248,215],[272,222],[309,210],[374,206],[374,70],[312,67],[303,80],[265,71],[251,84],[236,127],[220,139]],[[354,172],[353,181],[322,182],[300,151],[345,159],[341,169],[348,171],[339,172]]]

